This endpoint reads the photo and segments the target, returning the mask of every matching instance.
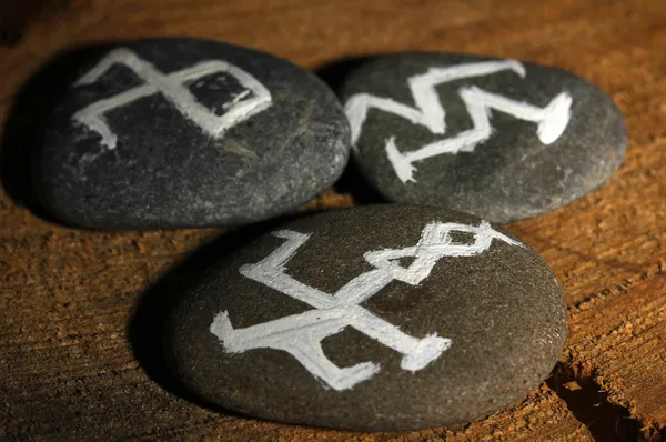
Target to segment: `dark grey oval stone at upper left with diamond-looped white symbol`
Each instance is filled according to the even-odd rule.
[[[37,190],[83,227],[253,222],[330,187],[349,138],[335,94],[295,64],[212,41],[143,40],[80,69],[48,122]]]

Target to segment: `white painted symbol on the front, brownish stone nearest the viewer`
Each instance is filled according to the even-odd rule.
[[[453,231],[473,234],[474,242],[455,242],[451,235]],[[495,231],[486,221],[478,227],[433,222],[423,229],[421,239],[414,247],[366,252],[363,258],[374,269],[360,274],[337,292],[330,294],[285,273],[286,264],[307,241],[310,234],[280,230],[273,232],[273,235],[283,238],[286,242],[262,261],[242,265],[241,274],[302,301],[314,310],[245,329],[234,329],[229,313],[224,311],[215,315],[210,331],[222,341],[224,349],[230,353],[261,348],[286,351],[314,376],[335,390],[351,389],[380,371],[380,366],[372,362],[340,368],[326,358],[322,350],[322,340],[346,327],[353,327],[401,353],[401,368],[411,372],[425,368],[452,344],[450,339],[440,338],[436,333],[423,339],[411,336],[361,307],[363,301],[394,280],[418,285],[444,257],[473,257],[483,253],[493,240],[522,247],[519,242]],[[404,268],[398,263],[401,258],[414,258],[414,261],[408,268]]]

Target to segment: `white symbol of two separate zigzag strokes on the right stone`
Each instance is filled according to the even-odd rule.
[[[393,99],[357,93],[345,103],[345,113],[352,127],[352,144],[361,137],[361,129],[371,108],[394,113],[414,124],[426,127],[431,132],[444,134],[446,112],[440,102],[435,87],[450,81],[488,76],[512,70],[525,77],[525,67],[515,60],[485,61],[458,64],[451,68],[431,68],[427,72],[407,80],[415,107],[400,103]],[[567,92],[556,96],[545,108],[538,108],[523,101],[514,101],[504,96],[491,93],[476,87],[461,88],[458,91],[474,127],[455,137],[445,138],[410,152],[401,152],[395,145],[395,137],[386,140],[385,150],[395,173],[403,182],[413,181],[417,161],[442,153],[472,152],[474,148],[493,134],[491,109],[508,113],[517,119],[537,123],[536,133],[544,144],[555,142],[562,135],[571,119],[572,97]]]

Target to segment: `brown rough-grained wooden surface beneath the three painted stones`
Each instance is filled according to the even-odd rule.
[[[73,0],[14,10],[24,17],[7,20],[4,4],[0,23],[22,32],[17,43],[0,46],[0,440],[666,440],[664,6]],[[607,91],[629,132],[619,172],[568,207],[507,227],[565,287],[571,336],[553,376],[486,419],[400,434],[260,422],[182,399],[147,340],[159,322],[152,317],[159,281],[183,260],[185,270],[193,265],[190,254],[224,230],[108,233],[59,225],[34,204],[27,155],[52,96],[49,82],[29,81],[44,63],[75,47],[168,34],[258,48],[309,69],[401,50],[517,58],[562,67]],[[333,82],[341,73],[323,72]],[[339,190],[307,209],[366,201],[353,181]]]

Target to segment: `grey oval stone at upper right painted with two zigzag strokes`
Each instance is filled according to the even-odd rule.
[[[583,197],[626,150],[613,100],[556,68],[403,53],[361,64],[340,93],[354,161],[386,199],[494,222]]]

